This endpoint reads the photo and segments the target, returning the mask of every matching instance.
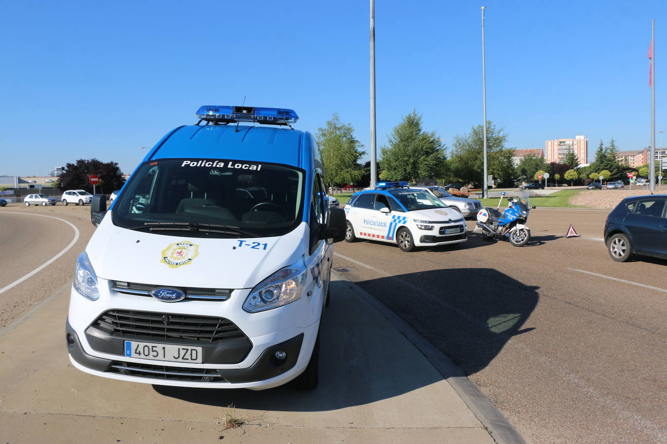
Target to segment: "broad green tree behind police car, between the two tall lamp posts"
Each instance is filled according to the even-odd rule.
[[[417,111],[404,116],[388,139],[388,145],[380,148],[382,180],[416,182],[446,174],[447,157],[440,136],[422,129],[422,115]]]

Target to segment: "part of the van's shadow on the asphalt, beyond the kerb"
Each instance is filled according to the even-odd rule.
[[[486,241],[484,241],[486,242]],[[538,304],[538,287],[492,268],[449,268],[358,282],[466,374],[484,369]]]

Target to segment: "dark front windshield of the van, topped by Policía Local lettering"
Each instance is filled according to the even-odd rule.
[[[113,204],[113,224],[170,236],[281,236],[301,222],[305,172],[230,159],[142,164]]]

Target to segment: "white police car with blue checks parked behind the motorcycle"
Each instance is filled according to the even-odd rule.
[[[378,182],[375,190],[356,192],[345,206],[345,240],[379,240],[410,252],[466,242],[468,228],[460,212],[408,182]]]

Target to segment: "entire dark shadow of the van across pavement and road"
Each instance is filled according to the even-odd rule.
[[[534,330],[522,326],[538,302],[537,288],[490,268],[432,270],[358,284],[467,374],[486,367],[512,336]],[[332,282],[331,292],[314,391],[289,385],[264,391],[153,388],[161,395],[219,407],[327,411],[390,399],[442,381],[421,353],[344,282]]]

